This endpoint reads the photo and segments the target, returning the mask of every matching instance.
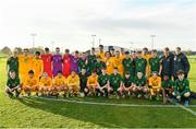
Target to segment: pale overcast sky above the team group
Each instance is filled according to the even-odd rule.
[[[196,0],[0,0],[0,48],[103,45],[196,50]],[[131,44],[133,43],[133,44]]]

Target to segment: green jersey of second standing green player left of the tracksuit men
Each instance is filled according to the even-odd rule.
[[[136,58],[135,59],[135,75],[137,72],[143,72],[143,74],[146,74],[146,66],[147,61],[144,58]]]

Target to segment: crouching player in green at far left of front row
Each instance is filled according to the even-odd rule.
[[[9,94],[10,98],[13,97],[14,92],[15,92],[15,96],[19,97],[21,93],[20,79],[16,77],[16,73],[14,70],[11,70],[9,74],[10,74],[10,78],[7,81],[5,92]]]

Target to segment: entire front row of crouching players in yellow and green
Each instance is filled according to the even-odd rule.
[[[163,103],[167,103],[167,98],[175,98],[179,102],[183,102],[184,105],[188,105],[189,99],[189,82],[184,78],[184,72],[180,70],[177,72],[177,80],[174,82],[169,79],[168,75],[161,78],[157,72],[152,72],[152,75],[147,80],[143,72],[137,72],[133,78],[130,72],[125,72],[124,78],[118,73],[118,68],[113,69],[112,74],[107,74],[106,68],[102,68],[101,74],[97,75],[96,71],[91,72],[91,75],[86,75],[86,70],[83,69],[77,75],[75,71],[71,72],[71,75],[65,79],[62,72],[59,71],[58,75],[51,80],[47,73],[42,73],[40,79],[34,75],[34,71],[28,72],[28,77],[25,83],[21,86],[20,79],[16,78],[15,71],[10,71],[10,79],[7,82],[5,92],[10,97],[15,92],[16,96],[22,94],[30,95],[35,93],[41,96],[63,96],[81,95],[85,96],[111,96],[115,94],[119,97],[136,96],[146,97],[150,99],[159,99],[159,96],[163,96]],[[22,92],[21,92],[22,91]],[[160,94],[161,93],[161,94]]]

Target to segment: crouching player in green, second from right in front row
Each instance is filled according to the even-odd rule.
[[[168,102],[168,98],[172,97],[173,93],[173,81],[170,80],[169,75],[164,74],[163,80],[161,82],[161,91],[163,97],[163,104]]]

